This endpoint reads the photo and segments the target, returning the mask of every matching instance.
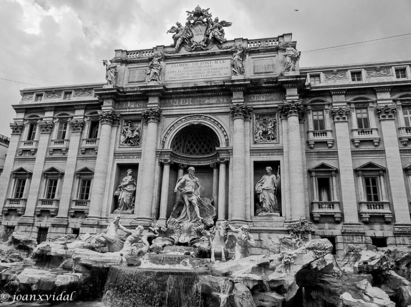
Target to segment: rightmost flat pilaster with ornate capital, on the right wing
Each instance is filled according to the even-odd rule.
[[[382,135],[384,138],[385,156],[387,170],[389,172],[389,183],[391,187],[391,197],[393,198],[396,226],[406,224],[406,226],[409,227],[411,226],[411,220],[409,217],[400,149],[398,147],[397,129],[394,120],[396,107],[388,105],[377,107],[377,112],[380,117]]]

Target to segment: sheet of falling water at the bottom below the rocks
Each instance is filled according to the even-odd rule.
[[[111,267],[104,289],[108,307],[202,307],[199,275],[208,270]]]

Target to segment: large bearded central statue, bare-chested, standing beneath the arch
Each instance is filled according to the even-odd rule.
[[[177,180],[174,192],[181,192],[181,199],[185,206],[181,211],[180,216],[177,218],[178,222],[197,222],[201,221],[200,210],[198,206],[201,206],[203,201],[200,197],[200,181],[195,176],[195,169],[190,167],[189,173],[185,174]]]

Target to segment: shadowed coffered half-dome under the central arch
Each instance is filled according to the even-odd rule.
[[[181,129],[171,143],[174,152],[184,155],[209,155],[219,146],[215,132],[204,125],[190,125]]]

